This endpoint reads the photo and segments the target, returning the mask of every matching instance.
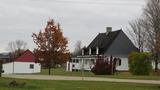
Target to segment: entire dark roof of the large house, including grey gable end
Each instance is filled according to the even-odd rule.
[[[110,54],[128,56],[130,52],[138,51],[121,29],[111,31],[108,34],[99,33],[87,48],[83,48],[84,55],[90,55],[89,48],[91,48],[91,55],[96,55],[97,47],[99,55]]]

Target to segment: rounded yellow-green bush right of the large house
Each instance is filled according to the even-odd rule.
[[[149,53],[133,52],[129,55],[129,68],[133,75],[149,75],[152,64]]]

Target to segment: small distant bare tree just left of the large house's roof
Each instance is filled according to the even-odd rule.
[[[74,56],[81,55],[81,49],[82,49],[82,42],[78,40],[75,44],[73,55]]]

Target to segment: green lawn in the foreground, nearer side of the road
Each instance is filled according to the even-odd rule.
[[[47,81],[47,80],[21,80],[25,86],[10,87],[8,83],[13,80],[0,78],[0,90],[160,90],[160,85],[109,83],[91,81]]]

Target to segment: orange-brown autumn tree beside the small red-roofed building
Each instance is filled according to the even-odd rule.
[[[32,37],[37,45],[37,56],[47,66],[49,75],[52,67],[69,59],[68,40],[63,36],[60,24],[55,23],[53,19],[47,22],[43,31],[33,33]]]

